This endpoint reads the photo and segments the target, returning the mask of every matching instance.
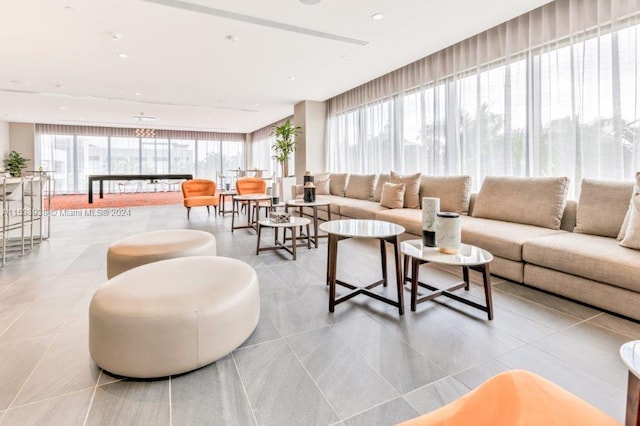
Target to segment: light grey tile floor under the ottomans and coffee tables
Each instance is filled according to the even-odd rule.
[[[120,217],[76,212],[58,213],[48,241],[0,270],[0,424],[390,425],[510,368],[539,373],[623,420],[627,372],[618,348],[640,339],[638,323],[495,277],[491,322],[452,300],[400,317],[359,296],[330,314],[326,240],[301,248],[293,262],[286,253],[256,256],[253,231],[231,233],[229,216],[204,209],[194,209],[191,221],[181,206],[132,208]],[[87,347],[87,309],[106,280],[107,247],[173,228],[210,231],[220,256],[256,269],[258,328],[200,370],[118,380],[93,364]],[[264,238],[268,244],[272,236]],[[342,278],[378,278],[375,243],[340,244]],[[455,280],[449,272],[430,271]],[[474,285],[469,296],[482,300],[482,288]]]

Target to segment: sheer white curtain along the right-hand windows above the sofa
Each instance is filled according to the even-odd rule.
[[[559,0],[328,100],[327,168],[630,180],[640,0]]]

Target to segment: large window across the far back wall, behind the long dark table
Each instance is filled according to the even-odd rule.
[[[225,140],[230,139],[226,134],[219,140],[199,140],[60,135],[44,130],[39,132],[39,164],[55,172],[60,194],[86,193],[87,177],[92,174],[190,173],[220,184],[221,171],[245,168],[244,135],[236,135],[236,140]],[[108,191],[114,188],[113,182],[107,182]],[[141,187],[145,188],[153,190]]]

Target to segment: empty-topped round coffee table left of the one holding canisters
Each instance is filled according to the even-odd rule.
[[[329,312],[333,312],[335,305],[345,302],[359,294],[373,297],[381,302],[396,306],[400,315],[404,314],[404,287],[402,284],[402,271],[400,270],[400,252],[398,250],[398,235],[404,232],[404,228],[395,223],[380,220],[332,220],[320,225],[320,230],[329,235],[327,253],[327,284],[329,285]],[[337,279],[336,269],[338,264],[338,241],[346,238],[376,238],[380,240],[380,262],[382,266],[382,279],[364,287],[358,287]],[[387,286],[387,250],[385,243],[393,245],[396,261],[396,286],[398,300],[393,300],[370,291],[382,284]],[[344,296],[336,298],[336,285],[341,285],[352,291]]]

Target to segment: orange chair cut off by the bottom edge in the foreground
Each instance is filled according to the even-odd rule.
[[[465,396],[400,426],[620,425],[607,414],[533,373],[500,373]]]

